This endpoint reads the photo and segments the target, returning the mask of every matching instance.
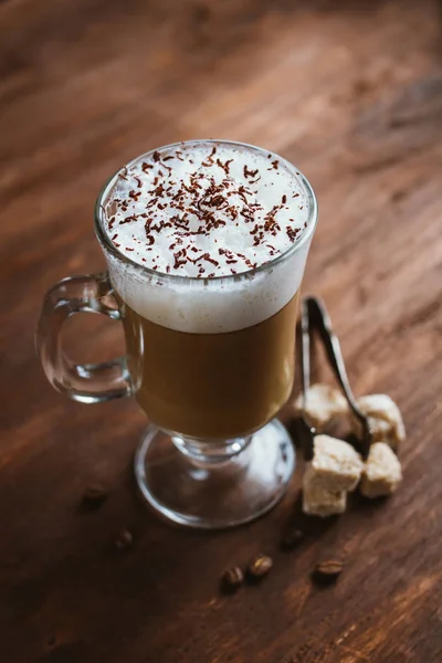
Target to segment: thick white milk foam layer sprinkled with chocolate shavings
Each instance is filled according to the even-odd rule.
[[[130,259],[106,252],[123,299],[156,324],[199,334],[255,325],[285,306],[301,285],[316,221],[312,192],[293,166],[222,141],[140,157],[101,203],[104,231]]]

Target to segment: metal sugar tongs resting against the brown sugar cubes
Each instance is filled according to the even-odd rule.
[[[303,410],[306,409],[307,391],[311,386],[311,338],[316,332],[324,345],[327,359],[335,378],[341,388],[351,413],[359,421],[362,438],[358,451],[366,459],[371,443],[371,431],[368,417],[358,408],[351,387],[348,381],[343,352],[338,337],[332,329],[332,320],[324,302],[317,297],[304,297],[301,308],[301,364],[302,364],[302,398]],[[305,417],[297,422],[297,433],[307,461],[313,457],[313,441],[316,430],[309,425]]]

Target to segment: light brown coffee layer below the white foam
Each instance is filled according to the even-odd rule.
[[[298,293],[266,320],[224,334],[168,329],[126,306],[128,366],[140,407],[164,430],[193,438],[257,430],[292,391],[297,304]]]

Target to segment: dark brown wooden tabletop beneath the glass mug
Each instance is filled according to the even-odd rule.
[[[2,662],[442,660],[440,19],[430,0],[1,2]],[[207,136],[307,173],[320,220],[305,291],[327,302],[355,391],[390,393],[407,422],[399,492],[356,501],[292,552],[278,539],[302,463],[262,520],[173,528],[136,496],[135,403],[70,402],[34,354],[45,290],[104,265],[92,210],[106,177]],[[113,356],[118,325],[78,317],[71,351]],[[81,513],[95,483],[109,497]],[[271,575],[221,594],[224,568],[261,550]],[[312,585],[343,550],[338,583]]]

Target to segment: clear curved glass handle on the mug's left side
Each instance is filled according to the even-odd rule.
[[[62,326],[76,313],[102,313],[113,320],[122,319],[107,272],[63,278],[44,297],[35,345],[48,380],[57,391],[83,403],[130,396],[125,357],[103,364],[74,364],[65,355]]]

